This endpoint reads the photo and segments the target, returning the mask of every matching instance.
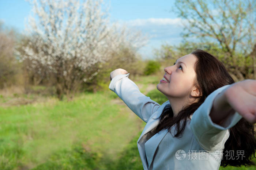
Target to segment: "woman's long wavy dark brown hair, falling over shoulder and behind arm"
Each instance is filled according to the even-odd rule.
[[[197,102],[183,107],[183,109],[173,116],[172,107],[166,105],[159,117],[160,123],[156,131],[160,132],[163,129],[168,129],[171,132],[173,125],[175,126],[176,138],[182,136],[185,126],[190,116],[196,111],[197,108],[204,102],[206,97],[214,90],[222,86],[233,84],[234,80],[227,72],[223,64],[213,55],[203,50],[195,50],[191,54],[195,55],[197,61],[195,63],[196,81],[195,85],[199,89],[200,97]],[[227,159],[225,153],[233,152],[234,157],[237,159]],[[242,156],[241,156],[241,151]],[[254,124],[249,123],[242,118],[238,123],[230,128],[230,136],[225,143],[223,150],[223,158],[221,166],[252,166],[255,163],[251,160],[255,157],[256,152],[256,133],[254,131]]]

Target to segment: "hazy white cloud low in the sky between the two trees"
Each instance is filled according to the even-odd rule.
[[[119,20],[120,25],[125,24],[129,28],[140,30],[150,37],[148,44],[139,51],[144,59],[154,58],[153,50],[159,49],[162,44],[178,45],[181,43],[181,32],[184,29],[182,24],[184,22],[180,18]]]

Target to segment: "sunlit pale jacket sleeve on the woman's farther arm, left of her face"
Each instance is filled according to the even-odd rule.
[[[160,105],[142,94],[138,86],[128,76],[129,74],[115,76],[109,84],[109,89],[115,92],[140,119],[147,123]]]

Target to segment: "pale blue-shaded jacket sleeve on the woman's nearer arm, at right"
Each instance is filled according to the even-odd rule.
[[[228,129],[236,125],[242,118],[237,112],[228,116],[221,125],[212,122],[210,111],[215,97],[225,90],[223,86],[212,92],[204,103],[193,113],[190,128],[199,145],[207,151],[222,150],[226,140],[229,138]]]

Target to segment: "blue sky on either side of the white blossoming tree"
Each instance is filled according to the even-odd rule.
[[[143,58],[153,58],[153,49],[159,49],[163,43],[181,42],[183,28],[180,19],[171,12],[174,0],[110,0],[107,3],[110,4],[111,20],[151,36],[140,50]],[[24,31],[29,13],[30,5],[25,0],[0,0],[0,20],[5,26]]]

